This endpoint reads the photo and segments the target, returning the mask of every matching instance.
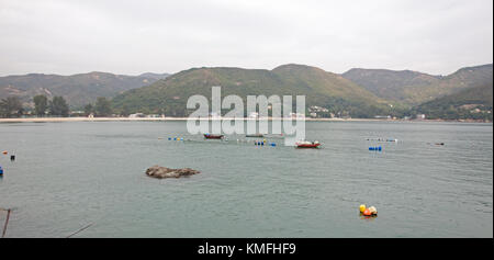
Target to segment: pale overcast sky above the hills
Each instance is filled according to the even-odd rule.
[[[289,63],[447,75],[492,57],[492,0],[0,0],[0,76]]]

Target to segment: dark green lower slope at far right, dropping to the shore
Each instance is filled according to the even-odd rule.
[[[492,121],[493,84],[469,88],[426,102],[413,109],[413,113],[428,118]]]

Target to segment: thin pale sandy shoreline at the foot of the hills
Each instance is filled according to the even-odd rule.
[[[48,123],[48,122],[161,122],[187,121],[189,117],[32,117],[32,118],[0,118],[0,123]],[[210,120],[210,118],[203,118]],[[221,120],[234,120],[223,117]],[[244,117],[243,120],[254,120]],[[272,120],[272,118],[269,118]],[[305,118],[306,122],[460,122],[460,123],[492,123],[475,120],[386,120],[386,118]]]

